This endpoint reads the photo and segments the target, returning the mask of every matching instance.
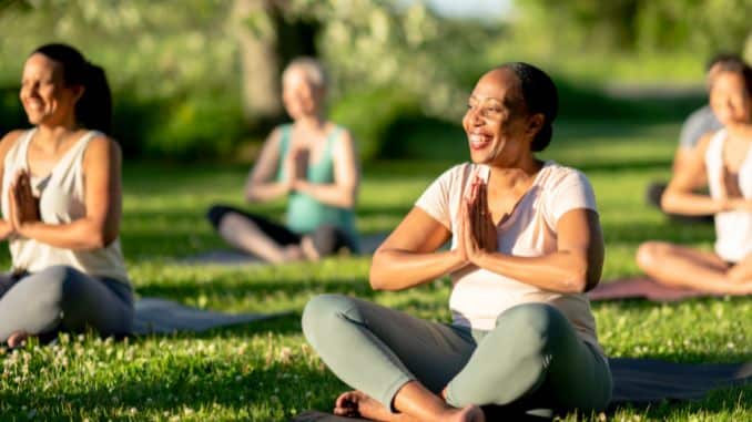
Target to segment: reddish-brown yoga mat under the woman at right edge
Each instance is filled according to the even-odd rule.
[[[657,302],[672,302],[702,297],[719,297],[703,291],[668,287],[644,278],[603,281],[588,291],[590,301],[646,299]]]

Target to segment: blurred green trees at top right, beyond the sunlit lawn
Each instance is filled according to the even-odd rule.
[[[533,42],[578,51],[742,52],[752,37],[745,0],[517,1]]]

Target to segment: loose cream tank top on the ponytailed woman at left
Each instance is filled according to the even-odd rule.
[[[2,174],[2,215],[8,218],[8,188],[20,169],[28,169],[27,152],[37,130],[21,135],[6,155]],[[40,198],[41,220],[47,224],[68,224],[85,216],[83,153],[99,132],[88,132],[73,145],[44,177],[32,177],[32,193]],[[14,270],[40,271],[53,265],[67,265],[83,274],[109,277],[129,282],[120,238],[104,248],[73,250],[57,248],[34,239],[13,237],[9,240]]]

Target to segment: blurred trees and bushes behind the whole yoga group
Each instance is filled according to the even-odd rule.
[[[327,64],[331,115],[366,163],[464,158],[467,94],[506,61],[555,76],[565,131],[678,128],[709,56],[752,55],[751,16],[750,0],[0,0],[0,133],[27,126],[21,69],[51,41],[108,71],[129,158],[252,161],[299,54]]]

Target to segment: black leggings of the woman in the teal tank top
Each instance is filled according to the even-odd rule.
[[[213,205],[209,209],[209,213],[206,213],[206,218],[212,223],[214,229],[219,230],[220,224],[227,213],[235,213],[236,215],[245,217],[255,224],[264,235],[280,246],[298,245],[303,238],[302,234],[295,233],[281,224],[274,223],[257,214],[246,213],[227,205]],[[353,241],[345,231],[328,224],[321,225],[316,227],[315,230],[306,233],[305,235],[311,237],[316,251],[321,256],[335,254],[342,248],[349,249],[354,253],[358,251],[355,241]]]

